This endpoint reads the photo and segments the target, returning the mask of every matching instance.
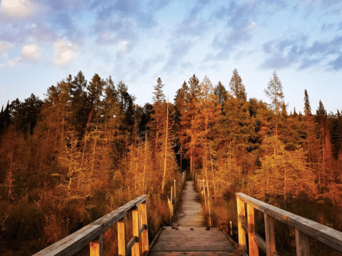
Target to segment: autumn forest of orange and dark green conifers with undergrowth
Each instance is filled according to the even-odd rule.
[[[38,252],[142,194],[153,237],[169,220],[166,194],[181,172],[213,180],[217,197],[246,193],[342,230],[342,113],[327,113],[321,101],[312,110],[306,90],[303,111],[289,111],[276,71],[265,85],[268,103],[247,98],[236,69],[226,87],[193,75],[170,103],[158,78],[151,103],[139,106],[123,81],[86,81],[79,71],[44,100],[7,103],[1,255]],[[217,226],[228,226],[224,213],[216,211]],[[106,232],[104,243],[115,237]]]

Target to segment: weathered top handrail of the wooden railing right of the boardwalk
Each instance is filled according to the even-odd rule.
[[[337,250],[338,252],[342,252],[342,232],[339,232],[338,230],[333,230],[331,227],[327,227],[326,225],[322,225],[313,220],[308,220],[305,217],[301,217],[293,213],[289,213],[286,210],[281,210],[280,208],[276,208],[273,205],[268,205],[268,203],[263,203],[262,201],[256,200],[255,198],[251,198],[250,196],[245,195],[243,193],[236,193],[236,198],[246,203],[248,207],[260,210],[268,217],[272,217],[273,219],[279,220],[285,223],[286,225],[293,227],[296,230],[296,235],[297,235],[297,232],[300,232],[298,233],[299,235],[302,235],[302,234],[308,235],[309,237],[312,237],[313,239],[318,240],[319,242],[322,242],[325,245],[328,245],[334,250]],[[242,213],[243,213],[242,217],[244,217],[244,210],[245,210],[244,205],[241,207],[241,209],[242,210],[240,210],[240,216],[239,216],[240,219],[241,219]],[[253,214],[251,213],[251,210],[250,210],[250,213],[248,213],[248,217],[250,214]],[[248,230],[249,223],[248,223],[248,227],[246,227],[246,224],[243,223],[244,220],[240,220],[240,221],[242,221],[241,227],[243,228],[243,230],[245,231],[246,229]],[[272,220],[272,229],[273,229],[273,220]],[[248,230],[246,232],[249,233],[250,231],[251,230]],[[253,230],[253,235],[255,236],[254,239],[256,240],[256,243],[259,245],[259,247],[264,247],[264,245],[261,246],[260,244],[263,244],[265,241],[260,242],[261,237],[256,235],[254,233],[254,230]],[[266,245],[266,247],[269,247],[269,246]]]

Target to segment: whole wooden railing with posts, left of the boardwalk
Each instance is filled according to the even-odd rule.
[[[90,255],[103,255],[103,233],[118,223],[118,253],[126,256],[131,251],[132,256],[143,255],[149,251],[149,235],[147,226],[146,195],[141,195],[121,206],[113,212],[91,222],[59,242],[46,247],[35,255],[74,255],[84,246],[90,245]],[[132,212],[133,237],[126,242],[126,215]]]

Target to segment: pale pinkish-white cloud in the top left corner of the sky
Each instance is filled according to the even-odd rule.
[[[30,0],[2,0],[0,12],[4,16],[26,18],[39,12],[40,6]]]

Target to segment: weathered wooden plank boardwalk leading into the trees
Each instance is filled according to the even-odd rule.
[[[164,227],[149,255],[241,255],[222,230],[206,230],[202,205],[193,186],[193,181],[186,181],[181,211],[175,220],[178,227]]]

